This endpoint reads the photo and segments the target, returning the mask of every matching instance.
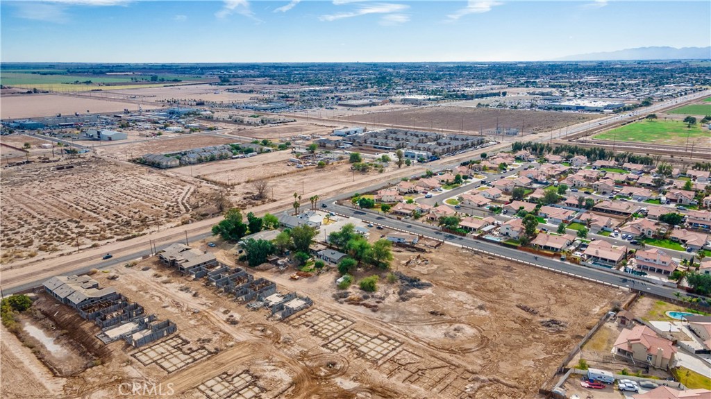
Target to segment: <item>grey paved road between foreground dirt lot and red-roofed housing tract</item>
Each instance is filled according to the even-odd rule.
[[[343,207],[337,204],[328,204],[327,209],[331,210],[332,212],[336,212],[336,214],[341,214],[348,217],[357,217],[358,219],[362,219],[364,222],[379,224],[390,229],[408,231],[412,234],[417,234],[419,236],[429,237],[431,239],[444,241],[457,246],[464,246],[465,248],[471,248],[474,251],[483,251],[486,253],[491,253],[493,256],[509,258],[513,261],[520,261],[523,263],[528,263],[530,265],[550,268],[552,270],[556,270],[559,273],[565,273],[575,275],[579,278],[595,280],[606,285],[614,285],[621,288],[641,290],[646,293],[652,293],[667,298],[675,298],[674,293],[678,292],[678,290],[675,288],[668,288],[662,285],[658,285],[653,280],[638,278],[636,276],[622,273],[617,270],[594,268],[589,266],[578,266],[573,265],[571,263],[557,261],[552,258],[534,256],[531,253],[518,251],[513,248],[507,248],[504,246],[499,246],[498,244],[470,239],[469,237],[461,237],[447,234],[443,231],[435,229],[432,226],[412,222],[410,220],[392,219],[390,217],[383,217],[382,215],[375,214],[373,212],[368,212],[361,209],[353,209],[350,207]]]

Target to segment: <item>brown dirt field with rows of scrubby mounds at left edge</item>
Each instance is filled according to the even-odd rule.
[[[68,170],[55,170],[71,165]],[[216,212],[215,190],[190,178],[96,158],[2,170],[2,263],[103,244]]]

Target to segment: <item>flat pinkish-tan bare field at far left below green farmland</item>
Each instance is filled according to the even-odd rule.
[[[129,109],[138,111],[138,104],[130,102],[107,101],[100,98],[70,97],[59,94],[26,94],[3,96],[0,98],[0,116],[2,119],[35,118],[55,116],[56,114],[73,115],[116,112]]]

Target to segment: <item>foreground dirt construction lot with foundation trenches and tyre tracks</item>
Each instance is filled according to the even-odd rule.
[[[234,264],[229,246],[200,248]],[[393,267],[432,287],[403,293],[402,282],[383,278],[377,293],[366,296],[354,285],[340,300],[333,297],[333,271],[294,281],[289,272],[248,270],[273,280],[282,292],[296,290],[314,300],[284,322],[269,319],[264,310],[250,312],[154,258],[118,266],[94,277],[146,312],[178,324],[176,334],[139,351],[182,351],[188,354],[185,365],[169,373],[164,361],[146,363],[139,351],[117,342],[108,346],[109,356],[100,356],[101,366],[73,378],[40,381],[24,367],[11,373],[48,386],[43,391],[50,394],[91,398],[115,397],[120,383],[141,378],[173,383],[176,398],[218,398],[209,389],[218,386],[239,390],[235,398],[248,398],[249,392],[262,398],[533,398],[563,354],[611,302],[626,296],[453,246],[417,254],[396,253]],[[112,275],[117,280],[109,280]],[[54,319],[75,322],[70,315]],[[71,337],[93,338],[97,327],[78,325]],[[21,364],[16,338],[3,344],[11,349],[3,351],[4,370]],[[21,389],[6,381],[12,379],[2,380],[6,397],[22,398]]]

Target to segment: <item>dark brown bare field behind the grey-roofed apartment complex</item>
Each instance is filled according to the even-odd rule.
[[[465,108],[460,106],[427,106],[402,111],[377,112],[343,116],[343,121],[361,124],[408,126],[413,129],[446,129],[464,133],[501,128],[521,129],[524,133],[550,131],[599,118],[600,115],[516,109]]]

